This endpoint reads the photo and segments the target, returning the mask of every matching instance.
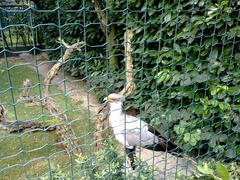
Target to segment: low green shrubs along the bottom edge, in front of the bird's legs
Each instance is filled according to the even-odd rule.
[[[153,177],[153,169],[140,159],[136,159],[136,170],[132,173],[130,169],[125,169],[125,156],[120,155],[118,147],[112,140],[106,141],[103,150],[95,154],[83,155],[77,157],[74,176],[79,179],[150,179]],[[69,172],[57,166],[53,167],[51,174],[46,175],[43,179],[71,179]]]

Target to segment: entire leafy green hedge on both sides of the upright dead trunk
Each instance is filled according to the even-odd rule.
[[[55,7],[53,1],[50,7]],[[142,119],[159,126],[185,152],[199,158],[240,160],[239,60],[240,3],[228,1],[115,1],[109,23],[117,27],[118,58],[123,59],[123,33],[133,30],[132,54],[137,90],[127,108],[146,112]],[[47,47],[56,47],[60,36],[73,43],[77,38],[87,46],[74,54],[66,69],[84,76],[101,97],[119,91],[124,84],[123,66],[109,73],[106,35],[101,32],[96,13],[68,9],[91,3],[62,1],[61,24],[57,31],[46,28]],[[126,10],[127,9],[127,10]],[[42,18],[42,17],[41,17]],[[52,15],[38,22],[56,21]],[[51,18],[51,20],[50,20]],[[83,26],[82,26],[83,25]],[[85,26],[84,26],[85,25]],[[88,25],[88,26],[86,26]],[[58,51],[58,50],[56,50]],[[120,63],[124,63],[120,61]],[[174,138],[177,137],[177,138]],[[207,156],[206,156],[207,154]]]

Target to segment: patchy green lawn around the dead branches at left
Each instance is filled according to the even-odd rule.
[[[58,119],[41,106],[17,103],[22,92],[22,83],[27,78],[32,81],[30,94],[40,95],[44,88],[43,77],[36,71],[27,65],[9,64],[7,68],[6,64],[0,64],[0,103],[6,107],[8,119],[41,121],[45,124],[58,123]],[[89,142],[92,142],[93,130],[87,110],[80,109],[80,102],[65,96],[57,86],[51,87],[50,95],[59,103],[62,113],[68,116],[68,121],[83,146],[83,152],[86,152]],[[0,179],[38,177],[48,173],[53,164],[66,168],[71,162],[71,157],[59,145],[59,138],[55,132],[9,134],[0,131]]]

